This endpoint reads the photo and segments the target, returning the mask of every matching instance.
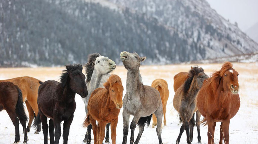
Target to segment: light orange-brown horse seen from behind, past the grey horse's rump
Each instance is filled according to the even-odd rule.
[[[158,92],[160,94],[162,106],[163,106],[164,126],[166,126],[166,122],[167,122],[166,121],[166,105],[167,105],[167,100],[168,100],[168,96],[169,96],[167,81],[165,81],[164,79],[155,79],[152,82],[151,87],[158,90]],[[157,117],[155,116],[155,114],[152,115],[152,121],[153,121],[152,128],[154,128],[154,126],[157,125]]]

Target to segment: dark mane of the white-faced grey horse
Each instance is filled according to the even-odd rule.
[[[86,83],[91,81],[91,76],[94,70],[94,62],[97,57],[101,56],[99,53],[89,54],[88,55],[88,63],[85,64],[86,68]]]

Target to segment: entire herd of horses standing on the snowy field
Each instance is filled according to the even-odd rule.
[[[123,107],[123,141],[127,143],[129,117],[131,122],[130,144],[138,144],[144,131],[144,126],[157,126],[159,144],[162,144],[161,127],[164,116],[166,125],[166,104],[169,96],[167,82],[156,79],[151,87],[143,85],[140,75],[140,63],[146,57],[137,53],[121,52],[120,59],[127,69],[126,94],[123,97],[124,87],[118,75],[110,74],[115,68],[115,62],[98,53],[89,54],[85,65],[86,78],[82,72],[81,64],[66,65],[60,82],[41,82],[32,77],[19,77],[0,81],[0,111],[5,109],[15,126],[15,141],[20,141],[19,120],[23,126],[24,141],[27,143],[27,132],[33,126],[37,128],[35,134],[42,131],[44,144],[48,143],[48,130],[50,143],[59,143],[61,137],[61,121],[63,123],[63,143],[67,144],[69,128],[76,108],[75,93],[79,94],[85,103],[87,114],[84,127],[88,127],[84,142],[91,143],[91,128],[94,134],[94,144],[102,144],[105,139],[109,143],[109,126],[111,126],[111,140],[116,143],[116,126],[118,114]],[[85,80],[86,79],[86,80]],[[187,143],[192,143],[193,127],[198,131],[198,143],[201,143],[200,123],[208,125],[208,144],[214,144],[214,131],[216,122],[220,125],[220,142],[229,143],[229,122],[240,107],[238,95],[238,72],[232,68],[232,63],[226,62],[219,71],[209,78],[204,69],[198,66],[191,67],[189,72],[180,72],[174,76],[173,105],[179,113],[180,128],[176,143],[186,131]],[[29,123],[26,128],[27,116],[24,111],[25,101],[29,112]],[[195,121],[196,113],[196,121]],[[200,122],[200,116],[204,119]],[[49,118],[49,123],[47,120]],[[96,123],[97,121],[97,123]],[[134,130],[139,127],[139,134],[134,140]],[[105,137],[106,127],[106,137]],[[55,131],[54,131],[55,130]]]

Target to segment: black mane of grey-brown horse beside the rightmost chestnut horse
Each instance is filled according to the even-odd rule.
[[[187,91],[189,90],[192,80],[194,78],[195,75],[198,75],[200,72],[204,72],[204,70],[200,67],[198,68],[198,66],[193,67],[191,70],[189,70],[189,78],[186,79],[184,86],[183,86],[183,92],[187,93]]]

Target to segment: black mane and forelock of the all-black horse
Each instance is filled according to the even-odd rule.
[[[82,72],[82,65],[81,64],[68,64],[65,65],[66,66],[66,70],[63,70],[62,75],[60,77],[60,84],[61,87],[65,87],[68,77],[69,77],[69,73],[71,73],[72,75],[77,75],[78,73]]]

